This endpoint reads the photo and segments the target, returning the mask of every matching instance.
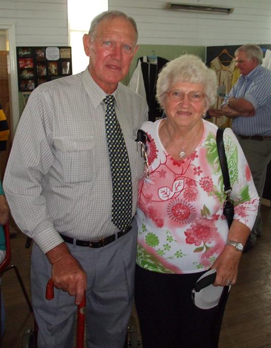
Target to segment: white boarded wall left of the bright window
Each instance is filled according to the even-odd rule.
[[[0,0],[0,24],[15,24],[16,46],[68,46],[67,0]]]

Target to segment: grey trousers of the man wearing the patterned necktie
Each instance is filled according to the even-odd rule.
[[[137,225],[115,242],[98,249],[67,244],[87,274],[86,341],[88,348],[123,348],[134,296]],[[72,348],[75,298],[54,289],[45,299],[51,277],[47,257],[34,244],[31,286],[38,324],[38,348]]]

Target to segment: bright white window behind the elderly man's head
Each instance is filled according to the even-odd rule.
[[[89,59],[84,52],[83,35],[88,33],[93,18],[107,10],[108,0],[68,0],[73,74],[83,71],[88,65]]]

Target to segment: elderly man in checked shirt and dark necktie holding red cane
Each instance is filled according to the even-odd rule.
[[[4,188],[16,223],[35,241],[31,280],[39,348],[73,346],[84,291],[87,346],[123,348],[143,173],[135,139],[147,105],[119,82],[137,37],[134,20],[124,13],[97,16],[83,37],[88,68],[39,86],[16,132]],[[51,276],[58,290],[50,302],[45,287]]]

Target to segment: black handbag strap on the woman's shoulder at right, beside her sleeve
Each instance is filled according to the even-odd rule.
[[[233,201],[230,199],[230,193],[232,189],[230,186],[228,163],[227,163],[225,147],[223,142],[224,129],[225,128],[218,128],[217,130],[217,148],[218,148],[218,157],[220,160],[220,166],[221,166],[221,171],[222,171],[223,181],[224,181],[224,194],[226,195],[226,199],[223,206],[223,214],[225,218],[227,219],[228,226],[230,228],[230,225],[233,221],[233,216],[234,216],[234,205],[233,205]]]

